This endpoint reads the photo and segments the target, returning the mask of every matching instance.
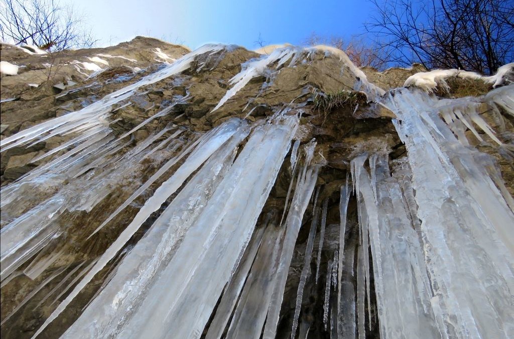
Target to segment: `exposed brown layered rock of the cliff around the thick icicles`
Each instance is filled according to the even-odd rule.
[[[29,55],[20,47],[5,44],[1,48],[2,60],[20,67],[15,76],[2,75],[2,140],[10,140],[7,138],[43,122],[57,121],[55,119],[87,110],[91,104],[108,98],[116,91],[150,79],[158,72],[166,72],[171,63],[190,52],[182,46],[142,37],[113,47],[64,51],[50,55]],[[266,52],[269,54],[273,50]],[[304,334],[308,331],[309,336],[305,334],[304,337],[309,338],[335,337],[337,324],[335,329],[331,329],[330,325],[336,317],[334,314],[337,314],[334,306],[337,305],[335,292],[328,292],[332,307],[327,313],[332,317],[328,320],[328,326],[325,326],[323,318],[324,312],[328,312],[325,311],[325,281],[332,279],[332,273],[327,272],[326,267],[329,263],[334,264],[335,252],[339,248],[341,187],[344,187],[346,178],[350,175],[350,164],[359,154],[387,154],[391,167],[405,159],[406,146],[393,124],[393,119],[397,117],[391,106],[383,103],[385,101],[382,99],[386,95],[379,97],[377,93],[385,93],[384,90],[402,86],[408,77],[424,69],[417,65],[411,69],[393,68],[386,72],[363,68],[367,78],[364,79],[338,55],[329,51],[298,49],[295,53],[282,64],[278,59],[279,61],[274,61],[260,70],[218,109],[215,109],[216,105],[235,86],[234,77],[244,72],[246,67],[251,67],[252,62],[262,60],[265,56],[238,46],[224,46],[194,56],[190,66],[182,72],[135,87],[125,99],[108,104],[104,115],[91,118],[91,122],[100,121],[99,131],[104,131],[102,133],[106,133],[105,138],[110,138],[108,142],[113,142],[113,147],[102,153],[102,162],[96,163],[96,159],[88,159],[88,153],[85,153],[83,157],[77,156],[80,166],[76,162],[69,162],[64,170],[58,168],[59,166],[49,167],[48,172],[44,172],[49,179],[41,183],[34,184],[31,181],[35,170],[50,166],[52,161],[60,156],[67,156],[67,152],[72,151],[73,147],[84,145],[81,142],[94,140],[98,134],[92,133],[85,141],[78,140],[67,145],[67,142],[81,135],[80,129],[75,127],[49,138],[41,135],[38,136],[39,142],[35,138],[3,151],[0,169],[2,187],[5,189],[3,194],[10,193],[10,187],[19,183],[25,186],[16,186],[15,190],[21,193],[11,195],[15,198],[6,203],[8,208],[3,207],[2,227],[16,223],[17,218],[24,215],[30,215],[43,202],[53,199],[52,197],[62,199],[62,205],[56,207],[58,217],[52,219],[50,224],[55,229],[46,245],[34,249],[12,272],[2,276],[2,336],[29,338],[43,325],[81,277],[116,242],[145,202],[186,162],[187,157],[179,157],[180,152],[193,145],[195,140],[208,131],[223,127],[224,123],[233,118],[254,123],[252,128],[257,128],[259,123],[270,123],[273,117],[280,114],[287,116],[294,113],[300,118],[293,140],[299,140],[302,149],[311,140],[316,140],[311,161],[319,166],[316,199],[320,203],[310,204],[303,215],[284,289],[276,337],[291,337],[309,227],[314,216],[319,213],[316,209],[321,208],[321,202],[326,206],[324,244],[320,242],[321,232],[317,232],[313,248],[315,259],[309,263],[311,274],[303,292],[304,301],[298,331]],[[451,91],[436,92],[433,97],[461,97],[459,93],[465,86],[458,81],[453,85],[449,82],[449,85]],[[460,141],[467,142],[466,147],[475,147],[491,156],[484,160],[484,166],[488,166],[491,171],[498,170],[498,174],[505,181],[506,194],[513,194],[514,118],[501,105],[489,103],[487,93],[491,89],[491,84],[481,84],[473,93],[475,97],[472,101],[480,106],[480,117],[495,132],[485,131],[482,126],[477,126],[473,121],[478,120],[470,122],[474,126],[473,130],[464,126],[457,118],[449,126],[455,134],[463,133],[459,138]],[[395,95],[394,92],[391,93]],[[122,95],[125,94],[120,94]],[[166,114],[160,114],[170,107]],[[133,129],[137,131],[125,136]],[[162,134],[158,134],[160,132]],[[500,146],[491,135],[498,138]],[[462,139],[463,136],[467,141]],[[119,144],[115,144],[113,140],[118,138]],[[248,138],[244,138],[241,148]],[[99,140],[100,143],[107,139]],[[51,156],[43,157],[61,145],[67,146],[51,153]],[[104,146],[98,147],[101,149]],[[153,155],[149,152],[151,149],[155,150]],[[169,160],[175,157],[177,162],[166,167]],[[290,185],[297,176],[296,169],[290,166],[289,160],[292,161],[292,158],[290,151],[260,212],[258,228],[264,228],[269,220],[280,224],[284,205],[290,199]],[[302,165],[307,164],[304,155],[298,155],[298,159]],[[366,164],[368,167],[372,166],[369,162]],[[139,187],[152,179],[159,169],[165,169],[163,175],[139,192],[126,208],[95,233],[97,227],[118,206],[130,199]],[[189,175],[195,173],[194,171]],[[108,190],[105,188],[101,191],[105,191],[102,193],[104,195],[98,193],[96,198],[88,195],[93,191],[88,180],[95,177],[105,180],[96,184],[108,187]],[[162,206],[156,207],[142,222],[141,227],[128,237],[116,256],[91,278],[67,306],[66,311],[39,337],[59,337],[79,318],[90,300],[116,273],[122,258],[145,236],[186,184],[187,181],[183,182],[176,193],[165,199]],[[44,212],[47,210],[42,209],[41,213]],[[347,209],[346,231],[343,233],[347,246],[353,244],[358,247],[358,213],[357,201],[352,198]],[[49,218],[53,218],[53,214]],[[357,250],[354,249],[354,252],[357,253]],[[365,248],[365,252],[368,252],[368,248]],[[371,259],[370,262],[373,266]],[[38,265],[41,265],[41,269]],[[317,271],[317,266],[321,267],[320,283],[316,283],[312,274]],[[354,266],[357,269],[357,260]],[[356,278],[354,280],[357,288]],[[366,297],[365,313],[369,316],[366,315],[365,320],[365,337],[378,338],[380,324],[373,275],[367,283],[371,289],[371,297]],[[331,289],[330,282],[328,288]],[[218,301],[218,306],[219,302],[221,301]],[[213,316],[214,313],[208,325],[211,324]],[[209,326],[206,326],[204,333],[198,336],[205,337],[208,329]]]

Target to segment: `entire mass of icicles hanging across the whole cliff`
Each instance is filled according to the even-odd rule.
[[[173,105],[118,138],[108,127],[114,104],[130,98],[141,86],[189,68],[196,56],[214,55],[224,48],[201,47],[81,111],[2,140],[4,151],[56,135],[74,135],[42,157],[62,155],[2,190],[3,284],[16,274],[35,278],[61,255],[48,244],[67,231],[59,219],[65,210],[90,211],[122,184],[128,198],[99,230],[181,163],[100,257],[82,262],[65,277],[60,275],[68,267],[54,272],[4,322],[45,284],[60,277],[58,286],[41,302],[65,283],[61,295],[68,294],[34,334],[38,336],[115,260],[116,269],[64,338],[199,338],[209,324],[208,339],[272,339],[304,213],[312,203],[314,217],[291,329],[292,338],[297,332],[301,339],[309,335],[309,325],[299,324],[299,316],[307,278],[318,281],[320,277],[327,201],[320,207],[315,193],[320,170],[313,160],[316,143],[300,147],[299,140],[293,140],[298,114],[285,110],[253,124],[230,119],[205,134],[194,134],[189,142],[178,139],[185,132],[171,124],[128,151],[130,134],[169,113]],[[215,109],[270,64],[289,61],[293,65],[310,52],[290,46],[248,62]],[[377,94],[365,78],[359,81]],[[512,86],[491,92],[486,100],[495,109],[501,106],[514,112]],[[484,155],[466,147],[463,127],[455,122],[470,128],[472,121],[494,141],[501,141],[469,101],[442,102],[423,92],[401,89],[388,94],[383,103],[397,117],[395,127],[408,158],[392,171],[384,152],[357,154],[351,162],[351,177],[341,187],[339,248],[326,267],[325,328],[329,323],[333,337],[365,337],[366,317],[371,324],[371,307],[366,315],[365,300],[370,304],[373,274],[382,338],[514,337],[514,203],[494,166],[483,166]],[[293,180],[282,220],[274,224],[274,218],[264,218],[256,227],[287,154]],[[153,156],[169,160],[139,184],[135,169]],[[82,194],[77,195],[79,191]],[[145,236],[126,248],[143,222],[177,191]],[[353,196],[359,241],[345,245],[346,211]],[[314,273],[310,262],[320,215]],[[18,272],[34,255],[26,269]],[[337,287],[335,302],[332,287]]]

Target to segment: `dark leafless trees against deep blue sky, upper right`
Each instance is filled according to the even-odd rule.
[[[372,0],[366,24],[400,64],[493,74],[514,59],[512,0]]]

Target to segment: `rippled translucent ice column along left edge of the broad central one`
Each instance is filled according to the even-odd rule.
[[[212,192],[231,167],[234,149],[248,135],[243,128],[229,144],[218,150],[212,158],[177,194],[177,197],[161,213],[148,234],[141,239],[118,266],[98,297],[90,302],[81,317],[65,333],[70,337],[102,337],[115,333],[122,326],[134,305],[141,304],[144,294],[155,281],[159,270],[173,257],[173,248],[180,244],[187,229],[196,220]],[[203,189],[198,190],[198,187]],[[193,194],[196,199],[191,201]],[[135,288],[137,287],[137,288]],[[113,304],[113,300],[119,300]],[[112,307],[102,307],[112,305]],[[95,326],[90,324],[95,319]],[[88,329],[86,333],[85,329]]]

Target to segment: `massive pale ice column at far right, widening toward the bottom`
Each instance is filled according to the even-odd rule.
[[[428,111],[436,99],[397,90],[388,100],[409,153],[439,330],[456,338],[514,336],[512,210],[474,161],[476,151]]]

